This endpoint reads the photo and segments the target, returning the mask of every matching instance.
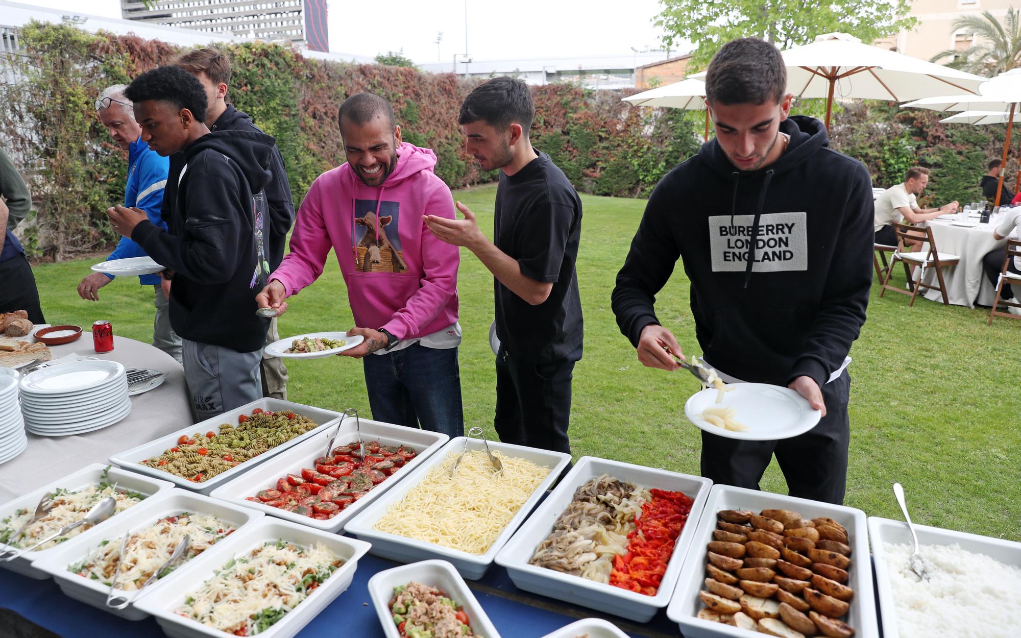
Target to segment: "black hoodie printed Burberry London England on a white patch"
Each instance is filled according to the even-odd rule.
[[[842,364],[872,284],[872,183],[861,162],[827,148],[818,119],[789,117],[780,131],[786,152],[759,170],[738,170],[714,139],[657,185],[613,293],[632,344],[660,323],[655,294],[681,257],[714,366],[822,387]]]

